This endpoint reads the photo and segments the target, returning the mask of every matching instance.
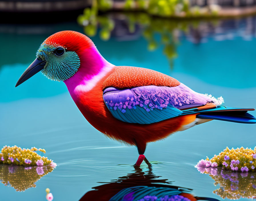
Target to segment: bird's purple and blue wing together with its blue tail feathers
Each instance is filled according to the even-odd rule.
[[[124,90],[109,87],[104,90],[103,99],[115,118],[128,123],[151,124],[197,113],[197,118],[256,123],[256,118],[246,113],[254,109],[216,106],[200,110],[197,107],[211,102],[211,99],[182,84],[177,87],[144,86]]]

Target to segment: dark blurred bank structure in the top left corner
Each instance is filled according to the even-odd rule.
[[[0,24],[76,21],[77,15],[89,6],[90,0],[0,0]],[[44,15],[39,17],[40,13]]]

